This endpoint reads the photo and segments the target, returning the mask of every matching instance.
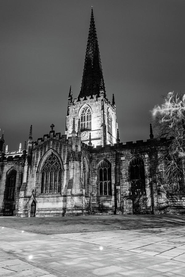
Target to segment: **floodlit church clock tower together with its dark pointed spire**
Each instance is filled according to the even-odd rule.
[[[76,131],[80,119],[82,142],[88,144],[91,136],[94,147],[116,143],[118,129],[116,105],[114,96],[112,103],[106,98],[93,10],[91,10],[81,90],[74,101],[71,86],[69,90],[65,131],[67,137],[71,137],[72,134],[73,118]]]

